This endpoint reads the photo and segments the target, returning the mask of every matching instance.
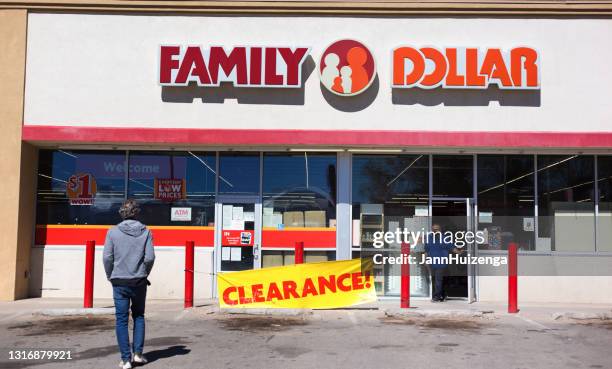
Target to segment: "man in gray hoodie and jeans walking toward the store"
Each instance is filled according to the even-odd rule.
[[[106,277],[113,285],[115,332],[121,351],[119,367],[123,369],[132,368],[132,362],[147,362],[142,355],[145,336],[144,311],[149,284],[147,277],[153,268],[155,251],[151,231],[136,220],[138,213],[140,208],[136,201],[130,199],[123,203],[119,209],[123,221],[106,233],[102,257]],[[130,304],[134,320],[132,347],[128,332]]]

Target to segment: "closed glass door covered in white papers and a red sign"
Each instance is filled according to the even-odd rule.
[[[261,267],[261,203],[256,196],[219,196],[216,204],[215,270]]]

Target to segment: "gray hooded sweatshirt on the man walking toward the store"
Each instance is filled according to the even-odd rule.
[[[102,261],[106,277],[113,284],[145,280],[155,261],[151,231],[133,219],[112,227],[106,233]]]

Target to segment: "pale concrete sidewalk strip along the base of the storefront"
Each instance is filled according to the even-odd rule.
[[[112,299],[96,299],[93,309],[83,309],[81,299],[31,298],[11,302],[0,302],[0,321],[12,316],[26,314],[69,316],[69,315],[106,315],[114,313]],[[256,315],[299,315],[311,314],[309,309],[219,309],[215,299],[198,300],[194,310],[209,313],[244,313]],[[612,320],[612,306],[600,304],[557,304],[557,303],[524,303],[519,305],[519,316],[536,320],[558,319],[606,319]],[[184,310],[182,300],[147,300],[147,312],[176,313]],[[332,309],[330,309],[332,310]],[[324,314],[330,310],[314,310]],[[371,311],[386,315],[412,316],[453,316],[453,317],[496,317],[508,315],[505,304],[495,302],[467,303],[465,300],[449,300],[443,303],[432,303],[425,299],[412,299],[409,309],[401,309],[399,300],[384,299],[376,303],[363,304],[333,311]]]

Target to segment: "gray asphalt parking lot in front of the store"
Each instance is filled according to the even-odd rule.
[[[612,368],[612,321],[376,309],[305,315],[151,309],[147,368]],[[0,321],[2,368],[116,368],[112,315]],[[70,349],[67,362],[7,361],[8,349]]]

